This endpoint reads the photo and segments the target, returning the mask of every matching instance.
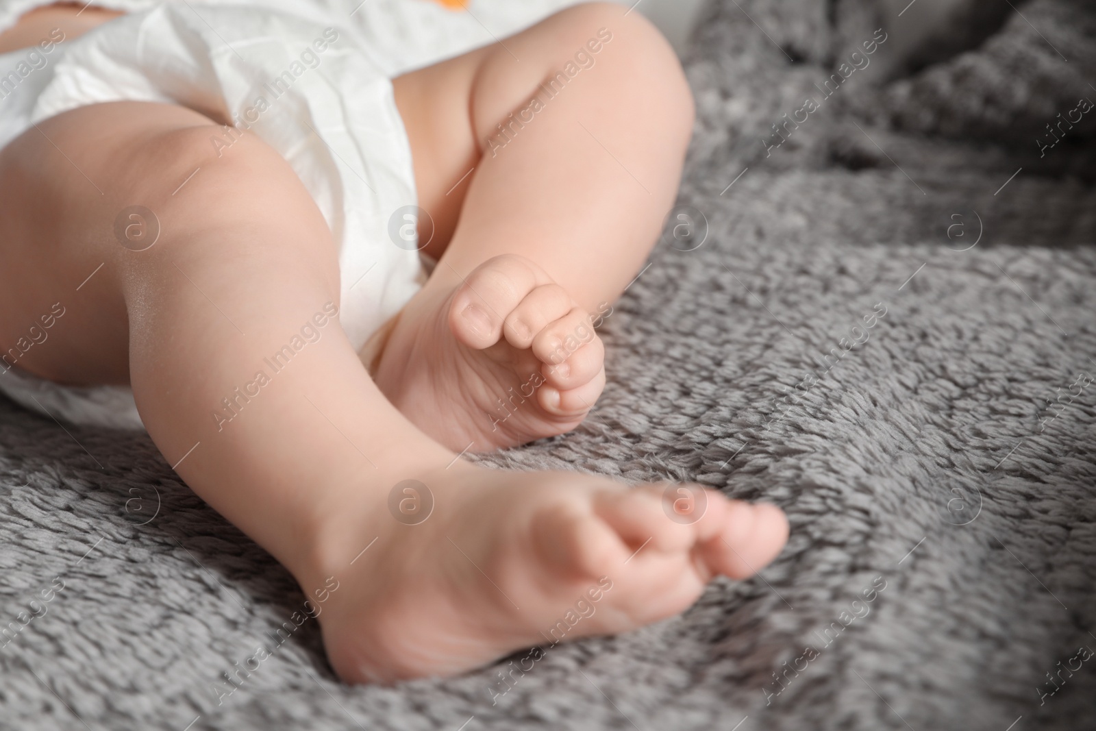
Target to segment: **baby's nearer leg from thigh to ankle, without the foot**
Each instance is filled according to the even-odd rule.
[[[122,102],[4,148],[0,345],[59,301],[49,340],[18,365],[130,382],[186,483],[304,579],[329,558],[316,539],[332,507],[407,476],[381,456],[413,448],[429,467],[452,455],[392,408],[330,317],[335,248],[293,170],[252,135],[218,157],[218,129],[182,107]],[[158,222],[124,217],[134,204]],[[133,239],[141,226],[159,238],[133,251],[119,218]]]

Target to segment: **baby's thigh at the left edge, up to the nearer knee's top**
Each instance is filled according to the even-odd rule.
[[[198,227],[247,216],[249,201],[270,203],[276,184],[296,181],[259,140],[217,160],[219,130],[184,107],[116,102],[41,122],[0,150],[5,366],[69,384],[128,381],[141,293],[216,255],[189,243]],[[315,208],[307,193],[286,195]]]

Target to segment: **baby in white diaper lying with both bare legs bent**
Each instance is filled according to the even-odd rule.
[[[4,87],[30,111],[0,138],[0,388],[54,413],[35,392],[132,387],[186,484],[324,599],[342,678],[473,669],[595,594],[568,639],[627,631],[780,551],[772,505],[464,459],[573,430],[605,385],[594,318],[693,125],[638,12],[580,4],[389,78],[345,9],[106,4],[133,12],[0,35],[4,62],[48,60]]]

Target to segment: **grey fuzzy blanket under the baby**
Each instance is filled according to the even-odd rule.
[[[345,686],[309,620],[228,695],[289,574],[146,436],[0,400],[0,728],[1096,728],[1096,11],[993,4],[709,5],[602,401],[480,459],[775,501],[760,576],[509,685]]]

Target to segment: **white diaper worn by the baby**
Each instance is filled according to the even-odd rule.
[[[3,2],[0,32],[48,1]],[[397,245],[389,231],[393,214],[416,202],[390,79],[572,2],[494,0],[472,15],[427,0],[96,0],[128,14],[76,39],[55,35],[0,55],[0,148],[101,102],[165,102],[236,121],[210,136],[210,153],[230,155],[233,137],[253,134],[293,167],[339,244],[340,319],[359,349],[424,281],[414,242]],[[144,429],[128,387],[59,386],[8,365],[0,362],[0,391],[30,409]]]

